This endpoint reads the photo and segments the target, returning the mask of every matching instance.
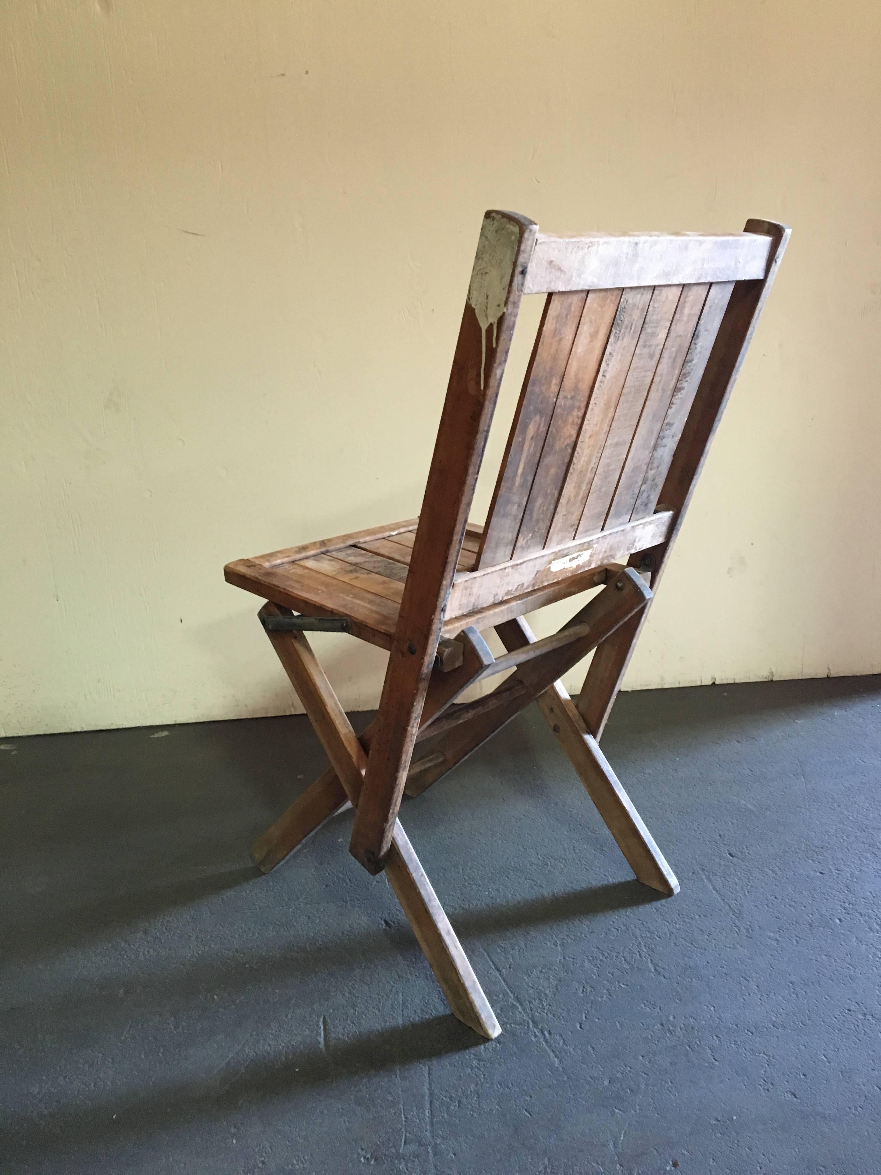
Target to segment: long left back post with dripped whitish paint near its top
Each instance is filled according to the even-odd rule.
[[[384,865],[538,226],[485,214],[385,671],[350,852]]]

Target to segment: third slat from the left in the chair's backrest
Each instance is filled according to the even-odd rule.
[[[549,546],[569,543],[576,535],[651,297],[651,288],[626,289],[621,295],[547,535]]]

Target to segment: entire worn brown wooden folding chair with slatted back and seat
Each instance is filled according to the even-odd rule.
[[[255,860],[268,872],[354,805],[351,853],[385,871],[452,1012],[485,1036],[498,1022],[397,819],[402,793],[537,701],[637,878],[678,892],[598,740],[788,236],[749,220],[725,236],[559,237],[487,212],[418,519],[226,568],[268,600],[261,620],[330,759]],[[480,526],[469,511],[524,294],[546,302]],[[536,640],[526,612],[586,591],[569,624]],[[503,657],[480,637],[490,626]],[[361,737],[312,629],[389,650]],[[559,678],[591,650],[573,704]],[[503,673],[493,693],[455,705]]]

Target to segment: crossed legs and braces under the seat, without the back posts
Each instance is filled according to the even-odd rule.
[[[613,578],[560,632],[545,640],[537,642],[522,618],[498,625],[496,631],[507,649],[498,659],[475,629],[464,630],[459,637],[462,664],[446,672],[435,669],[431,674],[406,791],[419,794],[537,700],[637,878],[664,894],[674,894],[679,889],[675,877],[559,682],[567,669],[638,616],[651,599],[634,571],[623,570]],[[262,620],[290,613],[271,603],[260,612]],[[357,806],[374,733],[371,724],[361,738],[355,734],[302,632],[267,630],[267,636],[330,767],[255,842],[253,857],[264,873],[330,817],[349,805]],[[451,709],[470,685],[511,669],[515,672],[493,693]],[[385,874],[453,1015],[492,1040],[502,1029],[399,820]]]

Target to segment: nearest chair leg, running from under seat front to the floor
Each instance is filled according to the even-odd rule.
[[[277,609],[267,604],[263,612],[273,615]],[[267,636],[324,746],[335,777],[357,807],[366,752],[330,682],[302,632],[268,632]],[[322,779],[305,794],[316,790],[317,795],[317,784]],[[452,1014],[476,1033],[493,1040],[502,1030],[498,1021],[399,821],[395,825],[385,872]]]

